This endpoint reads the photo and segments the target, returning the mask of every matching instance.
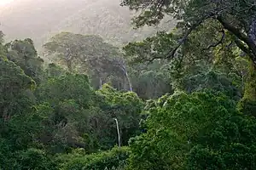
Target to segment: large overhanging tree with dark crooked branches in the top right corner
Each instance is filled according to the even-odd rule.
[[[136,26],[158,24],[166,15],[182,20],[178,23],[177,27],[179,29],[175,33],[166,34],[166,37],[170,37],[173,34],[177,35],[177,37],[171,37],[172,41],[168,42],[168,48],[157,48],[160,45],[154,43],[153,46],[136,44],[144,48],[142,49],[141,47],[137,50],[140,53],[133,54],[140,56],[143,52],[144,55],[141,56],[143,58],[149,56],[149,58],[146,58],[148,60],[177,59],[178,57],[181,58],[180,60],[185,60],[186,56],[189,56],[188,63],[191,63],[192,60],[196,62],[201,56],[208,57],[210,55],[211,60],[212,57],[215,58],[218,54],[224,54],[225,56],[228,54],[230,56],[229,59],[235,61],[237,55],[234,57],[230,52],[239,49],[246,54],[251,63],[245,85],[243,103],[250,103],[251,105],[252,102],[256,101],[255,1],[124,0],[122,5],[141,11],[141,14],[133,20]],[[157,40],[160,40],[160,38]],[[165,44],[164,42],[167,41],[164,39],[160,40],[160,42],[163,42],[160,44]],[[144,42],[144,44],[148,44],[148,42]],[[134,46],[132,43],[131,45]],[[147,50],[145,50],[145,47]],[[152,50],[148,50],[148,48]],[[145,51],[147,52],[146,54],[150,55],[145,55]],[[248,110],[251,113],[255,110],[253,104]]]

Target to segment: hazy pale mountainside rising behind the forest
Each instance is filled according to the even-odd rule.
[[[122,45],[160,30],[147,26],[132,29],[133,14],[119,3],[119,0],[15,0],[0,7],[0,30],[7,41],[30,37],[37,48],[60,31],[96,34]],[[163,25],[170,28],[173,23]]]

